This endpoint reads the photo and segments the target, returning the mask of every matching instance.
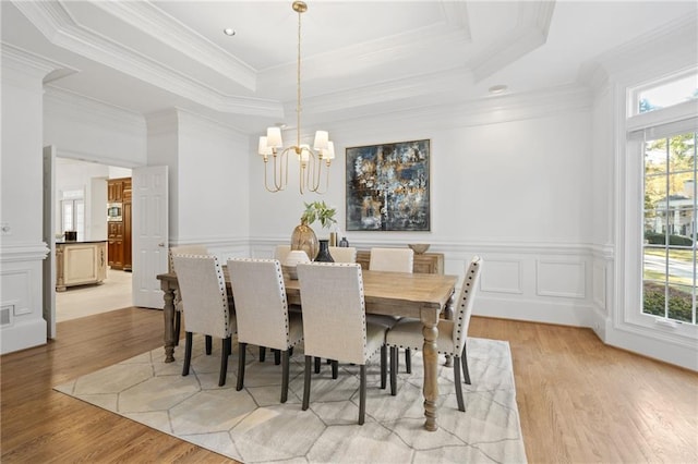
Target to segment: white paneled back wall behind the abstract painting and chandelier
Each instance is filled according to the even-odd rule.
[[[346,232],[349,242],[431,243],[430,252],[445,254],[446,272],[459,276],[478,254],[484,267],[477,314],[591,327],[591,96],[562,88],[537,101],[522,109],[520,101],[492,99],[478,112],[430,108],[312,127],[329,130],[337,152],[322,197],[298,193],[294,160],[289,190],[266,193],[263,162],[251,156],[252,253],[272,256],[274,244],[288,242],[303,202],[338,207],[344,230],[346,147],[429,138],[431,231]]]

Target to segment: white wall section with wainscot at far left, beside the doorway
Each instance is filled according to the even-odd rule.
[[[43,318],[43,77],[47,63],[2,49],[0,353],[46,343]]]

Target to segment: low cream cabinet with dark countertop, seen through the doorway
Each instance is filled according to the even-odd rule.
[[[72,285],[100,283],[107,278],[106,242],[56,244],[56,291]]]

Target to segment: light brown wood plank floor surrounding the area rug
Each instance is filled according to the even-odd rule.
[[[2,356],[0,461],[230,462],[51,390],[161,346],[161,312],[120,309],[60,322],[56,341]],[[587,329],[473,317],[470,335],[512,345],[529,462],[698,462],[696,373]]]

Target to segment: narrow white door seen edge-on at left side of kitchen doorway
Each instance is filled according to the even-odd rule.
[[[46,337],[56,338],[56,147],[44,147],[44,242],[49,254],[44,259],[43,285]]]

